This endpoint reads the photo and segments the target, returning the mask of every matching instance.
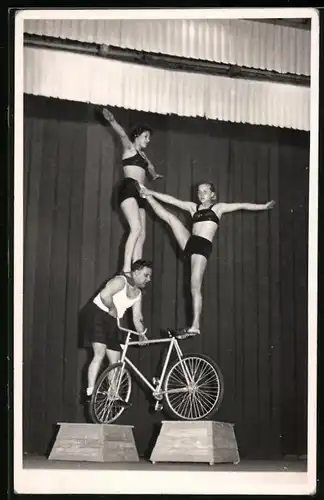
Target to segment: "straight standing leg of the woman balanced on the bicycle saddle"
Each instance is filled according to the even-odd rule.
[[[200,316],[202,311],[202,282],[207,265],[207,259],[203,255],[194,254],[191,256],[191,297],[193,319],[192,325],[188,328],[188,333],[200,331]]]

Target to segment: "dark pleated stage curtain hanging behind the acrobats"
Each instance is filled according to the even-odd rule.
[[[307,221],[309,134],[114,109],[129,129],[154,129],[147,154],[181,199],[211,180],[220,201],[276,200],[270,212],[225,215],[204,280],[202,335],[187,352],[213,357],[225,379],[217,420],[235,424],[242,457],[306,452]],[[57,422],[82,422],[87,353],[79,311],[119,268],[125,240],[114,205],[121,147],[93,105],[25,97],[24,451],[44,453]],[[171,208],[171,207],[169,207]],[[179,211],[172,209],[179,214]],[[187,221],[184,214],[180,214]],[[147,215],[145,257],[154,279],[144,299],[150,335],[187,324],[181,256],[161,221]],[[132,358],[149,377],[159,347]],[[163,414],[138,385],[120,423],[149,453]]]

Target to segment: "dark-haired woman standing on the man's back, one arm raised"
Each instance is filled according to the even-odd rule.
[[[139,195],[138,183],[145,183],[147,173],[153,180],[162,176],[156,173],[154,166],[143,152],[150,142],[151,129],[144,125],[139,126],[128,137],[107,108],[103,109],[103,116],[117,132],[123,145],[124,179],[119,188],[118,202],[130,228],[125,244],[123,265],[123,272],[129,275],[132,262],[142,258],[145,241],[145,203]]]

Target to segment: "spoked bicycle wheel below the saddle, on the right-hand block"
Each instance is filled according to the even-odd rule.
[[[164,391],[165,411],[171,418],[211,418],[223,399],[223,375],[215,361],[208,356],[190,354],[170,367],[165,377]]]

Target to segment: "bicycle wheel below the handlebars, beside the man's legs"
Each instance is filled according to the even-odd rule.
[[[131,392],[132,378],[125,365],[116,363],[106,368],[92,393],[89,405],[91,420],[96,424],[110,424],[117,420],[125,410],[118,397],[128,402]]]

